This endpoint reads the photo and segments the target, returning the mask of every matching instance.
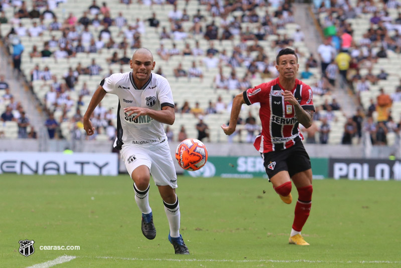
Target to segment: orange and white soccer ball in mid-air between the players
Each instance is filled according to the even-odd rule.
[[[206,146],[197,139],[183,140],[177,146],[176,159],[182,168],[188,171],[198,170],[206,164]]]

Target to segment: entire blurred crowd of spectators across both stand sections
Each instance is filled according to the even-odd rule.
[[[126,54],[127,50],[141,47],[143,35],[146,31],[153,31],[151,28],[155,28],[160,37],[160,47],[155,51],[155,54],[161,60],[169,62],[174,57],[197,56],[197,60],[192,61],[189,68],[183,67],[184,65],[181,62],[176,66],[171,66],[171,69],[174,70],[175,79],[197,77],[202,81],[205,76],[204,70],[217,68],[219,71],[215,74],[212,86],[216,89],[226,90],[227,94],[230,95],[231,92],[236,94],[236,92],[252,87],[251,81],[255,77],[266,80],[277,76],[275,58],[269,57],[266,48],[259,44],[260,41],[267,40],[272,35],[277,36],[277,38],[272,39],[271,47],[268,49],[278,52],[286,46],[293,46],[295,43],[302,42],[305,39],[305,35],[299,27],[291,36],[283,34],[282,30],[286,28],[286,24],[294,22],[292,4],[288,0],[269,3],[256,0],[242,2],[201,0],[199,4],[206,6],[206,9],[199,9],[195,14],[188,14],[186,7],[178,8],[174,0],[166,3],[164,1],[141,1],[142,5],[145,6],[173,5],[171,11],[168,14],[166,13],[169,26],[163,24],[162,27],[161,20],[155,12],[149,18],[144,20],[137,18],[134,23],[128,23],[123,13],[119,12],[118,15],[112,17],[110,10],[113,7],[108,7],[106,3],[100,5],[95,0],[78,17],[76,17],[78,14],[71,13],[65,19],[58,18],[56,12],[54,12],[57,8],[57,3],[66,1],[50,1],[49,5],[46,5],[44,1],[34,1],[32,10],[28,10],[23,1],[13,1],[11,4],[5,3],[2,5],[0,12],[3,11],[2,9],[14,8],[15,14],[13,18],[6,18],[3,12],[0,16],[0,23],[9,23],[13,26],[12,30],[3,37],[10,44],[13,44],[14,66],[18,72],[21,64],[21,53],[29,53],[31,58],[53,57],[55,60],[79,57],[80,53],[86,53],[93,58],[88,66],[83,66],[81,63],[78,63],[77,66],[72,66],[62,78],[54,75],[52,70],[46,66],[43,69],[35,66],[31,72],[31,77],[28,77],[30,82],[44,80],[49,85],[49,91],[44,100],[46,111],[49,114],[48,121],[55,121],[57,123],[56,129],[60,127],[62,122],[71,121],[74,125],[72,135],[74,138],[79,139],[82,138],[78,133],[79,130],[82,131],[80,107],[84,102],[83,97],[90,95],[90,91],[85,84],[82,88],[77,88],[77,85],[80,84],[78,83],[80,76],[100,75],[106,77],[110,75],[111,70],[96,63],[95,55],[102,51],[106,51],[106,53],[102,54],[102,57],[106,54],[109,64],[122,66],[129,63],[130,55]],[[131,1],[121,0],[121,3],[130,5]],[[380,80],[388,79],[389,74],[385,69],[380,73],[372,73],[377,59],[387,57],[389,51],[399,53],[401,50],[401,38],[399,38],[398,31],[388,30],[388,25],[401,23],[401,14],[398,16],[399,19],[394,19],[387,12],[388,9],[397,8],[397,2],[385,2],[382,9],[375,7],[373,2],[369,1],[358,1],[355,7],[347,0],[331,1],[330,6],[325,6],[325,3],[322,2],[322,5],[316,9],[318,14],[327,13],[327,16],[320,21],[326,38],[323,44],[319,46],[316,54],[319,56],[321,63],[321,76],[316,77],[315,70],[319,64],[318,59],[314,58],[313,54],[306,55],[296,49],[299,57],[307,58],[305,66],[300,66],[302,71],[299,75],[302,79],[316,79],[317,82],[312,84],[315,96],[335,95],[337,88],[349,86],[355,96],[359,98],[360,93],[369,91],[371,85],[377,84]],[[11,6],[7,7],[8,5]],[[268,6],[274,7],[274,9],[268,9]],[[260,15],[260,12],[256,12],[263,8],[266,8],[263,15]],[[347,19],[358,18],[361,14],[372,15],[370,22],[368,22],[370,27],[366,33],[363,33],[362,39],[355,40],[354,29]],[[206,17],[210,16],[213,20],[206,20]],[[21,23],[23,18],[33,19],[32,25],[30,27],[23,25]],[[219,21],[218,25],[215,23],[217,21]],[[256,26],[250,28],[249,23]],[[111,26],[118,29],[118,36],[122,37],[121,42],[113,40],[113,35],[110,33]],[[41,36],[44,31],[49,31],[51,38],[44,40],[42,46],[24,48],[18,42],[18,37]],[[57,34],[52,34],[53,32],[61,32],[60,37],[58,38],[57,36],[59,35]],[[188,39],[208,40],[209,47],[202,49],[199,42],[195,42],[193,47],[187,42],[183,48],[178,48],[175,44],[175,42]],[[237,39],[240,41],[234,42]],[[169,49],[165,47],[165,41],[167,40],[173,41],[173,45]],[[217,49],[215,47],[215,43],[225,40],[231,41],[232,52],[227,52],[231,51],[231,49]],[[25,49],[27,51],[24,52]],[[122,56],[121,51],[123,51]],[[246,71],[239,73],[237,71],[238,67],[245,68]],[[225,73],[224,70],[227,69],[229,69],[229,72]],[[361,75],[361,69],[367,69],[368,73]],[[166,76],[161,67],[158,67],[155,72]],[[174,78],[168,75],[168,79]],[[75,92],[77,99],[71,99],[69,97],[70,92]],[[388,92],[388,90],[386,89],[385,92]],[[387,125],[396,125],[388,122],[392,121],[390,115],[391,105],[401,100],[401,86],[397,88],[394,94],[390,95],[390,99],[384,99],[380,97],[380,101],[385,104],[381,104],[381,102],[379,104],[379,98],[377,100],[372,99],[372,103],[366,111],[358,110],[356,115],[351,118],[351,121],[356,126],[347,119],[344,126],[343,143],[348,143],[350,137],[351,140],[353,137],[358,137],[358,141],[360,141],[361,132],[365,130],[363,122],[368,121],[365,117],[369,118],[373,114],[377,114],[377,120],[373,120],[374,128],[370,127],[369,131],[379,129],[377,127],[379,122],[384,122],[387,132],[396,131],[396,128],[389,128]],[[359,98],[358,100],[361,99]],[[225,114],[229,110],[229,104],[224,103],[222,98],[218,98],[215,102],[210,100],[205,107],[202,107],[199,103],[191,105],[194,105],[194,107],[190,107],[188,102],[178,103],[176,104],[176,110],[179,113],[191,113],[199,121],[201,120],[200,118],[208,114]],[[316,117],[320,121],[319,124],[306,130],[308,142],[329,142],[330,125],[333,120],[336,120],[333,111],[339,109],[336,105],[338,106],[335,99],[333,99],[330,105],[324,104],[322,107],[318,107],[317,110],[320,109],[325,112],[319,118],[319,112],[317,111]],[[112,136],[111,133],[113,131],[109,126],[110,120],[112,121],[113,118],[110,117],[106,118],[105,112],[94,115],[96,133],[110,134],[109,136]],[[358,117],[357,120],[355,119],[356,117]],[[248,125],[247,128],[249,130],[247,131],[253,133],[246,135],[245,141],[248,141],[257,132],[257,128],[254,123],[244,123],[243,125]],[[50,129],[55,126],[54,122],[47,124],[47,126],[50,137],[61,136],[61,132],[57,131],[54,132],[54,135],[51,134]],[[253,128],[254,130],[252,131]],[[383,127],[380,125],[380,131],[381,129]],[[169,132],[172,131],[169,130]],[[319,138],[315,138],[318,134]],[[173,139],[174,135],[169,135],[172,135],[171,139]],[[185,136],[184,127],[181,129],[180,135],[181,137]],[[205,134],[202,135],[204,138],[208,138]],[[236,133],[236,135],[240,135],[240,133]],[[239,140],[242,141],[243,138],[241,137]],[[377,138],[372,140],[376,143]]]

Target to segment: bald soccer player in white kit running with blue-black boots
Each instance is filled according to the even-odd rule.
[[[118,96],[114,148],[121,150],[121,158],[134,182],[135,201],[142,212],[142,233],[148,239],[156,237],[149,206],[152,174],[169,221],[168,239],[176,254],[189,254],[180,234],[180,207],[175,193],[177,175],[163,128],[163,123],[172,125],[175,120],[173,96],[167,79],[152,73],[155,64],[150,50],[136,50],[129,63],[132,72],[114,73],[101,81],[84,115],[83,125],[86,133],[93,135],[90,116],[94,109],[106,93]]]

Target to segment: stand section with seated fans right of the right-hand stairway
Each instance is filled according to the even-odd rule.
[[[331,44],[350,56],[347,80],[367,117],[364,131],[373,144],[383,132],[387,145],[399,143],[401,66],[398,1],[315,1],[319,23]],[[383,94],[380,94],[380,90]],[[384,122],[384,126],[380,124]]]

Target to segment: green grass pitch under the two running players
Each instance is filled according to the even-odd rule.
[[[261,178],[179,176],[181,234],[175,255],[157,187],[150,204],[157,236],[141,232],[128,175],[0,175],[0,266],[26,267],[400,267],[400,182],[316,180],[303,235],[288,243],[295,202],[284,204]],[[263,193],[265,191],[265,193]],[[298,194],[293,187],[293,197]],[[25,257],[19,240],[34,240]],[[40,250],[79,245],[80,250]],[[43,266],[43,265],[42,265]]]

